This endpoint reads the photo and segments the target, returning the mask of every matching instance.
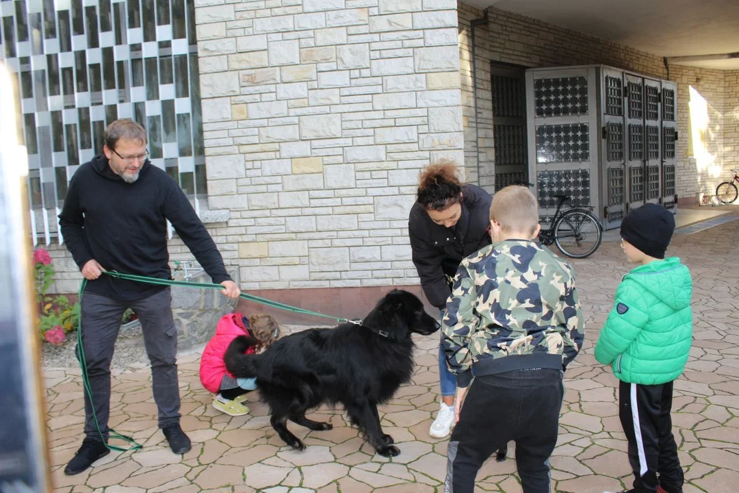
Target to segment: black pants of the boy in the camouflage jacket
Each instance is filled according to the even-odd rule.
[[[549,493],[549,456],[564,392],[560,370],[475,377],[449,439],[444,492],[474,492],[477,471],[512,440],[524,493]]]

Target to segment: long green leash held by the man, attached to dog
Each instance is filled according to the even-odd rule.
[[[117,272],[117,271],[103,271],[103,273],[106,273],[107,275],[111,277],[115,277],[116,279],[126,279],[127,281],[143,282],[143,283],[151,284],[151,285],[185,286],[186,288],[217,289],[217,290],[223,289],[222,285],[214,284],[211,282],[174,281],[170,279],[158,279],[156,277],[137,276],[135,274],[126,274],[126,273]],[[78,296],[78,300],[80,302],[80,310],[82,310],[82,305],[81,305],[82,292],[84,291],[86,285],[87,285],[87,279],[83,278],[82,285],[80,286],[80,293]],[[324,319],[336,320],[336,322],[339,322],[339,323],[350,322],[352,324],[361,325],[361,322],[356,322],[355,320],[342,319],[336,316],[325,315],[324,313],[314,312],[311,310],[305,310],[304,308],[293,307],[291,305],[286,305],[285,303],[275,302],[271,299],[262,298],[261,296],[254,296],[253,294],[241,293],[239,295],[239,298],[247,299],[251,302],[256,302],[261,305],[267,305],[268,307],[278,308],[279,310],[286,310],[286,311],[290,311],[293,313],[302,313],[304,315],[319,316],[319,317],[323,317]],[[95,420],[95,429],[98,430],[98,434],[100,435],[100,438],[103,441],[103,443],[105,443],[105,446],[108,447],[108,449],[115,450],[117,452],[127,452],[129,450],[142,449],[143,446],[140,443],[137,443],[132,437],[129,437],[128,435],[121,435],[120,433],[116,432],[115,429],[112,429],[112,428],[109,428],[110,438],[116,438],[119,440],[126,441],[128,443],[132,443],[132,446],[126,449],[120,446],[109,445],[103,438],[103,432],[101,431],[100,425],[98,424],[98,415],[95,413],[95,406],[92,404],[92,387],[90,387],[90,383],[89,383],[89,376],[87,374],[87,365],[85,364],[85,361],[86,361],[85,350],[84,350],[84,347],[82,346],[82,314],[81,313],[80,313],[78,323],[77,323],[77,359],[80,362],[80,367],[82,369],[82,384],[84,386],[84,389],[87,391],[87,396],[90,401],[90,407],[92,408],[92,418]]]

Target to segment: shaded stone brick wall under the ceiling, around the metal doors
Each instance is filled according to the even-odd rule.
[[[468,166],[474,163],[475,121],[473,93],[471,92],[471,47],[469,42],[470,22],[483,17],[484,13],[462,2],[458,3],[460,30],[460,58],[462,66],[463,111],[465,115],[465,154]],[[478,27],[476,35],[477,92],[480,112],[480,152],[483,153],[485,169],[494,167],[491,129],[491,88],[489,64],[491,61],[515,64],[522,67],[556,67],[566,65],[605,64],[633,70],[656,78],[668,78],[667,67],[661,57],[641,52],[611,41],[594,38],[553,24],[491,8],[488,10],[487,26]],[[698,192],[715,190],[721,180],[716,176],[723,169],[728,174],[731,161],[736,162],[737,137],[724,127],[729,123],[723,108],[726,102],[736,101],[729,97],[729,81],[736,81],[735,72],[699,69],[694,67],[670,67],[671,80],[678,82],[678,140],[677,188],[678,195],[695,200]],[[732,78],[733,77],[733,78]],[[696,82],[698,80],[698,82]],[[708,146],[715,155],[714,171],[698,169],[695,159],[688,155],[688,103],[689,86],[695,86],[706,98],[710,110],[712,129]],[[736,91],[736,89],[734,89]],[[736,107],[736,106],[735,106]],[[736,117],[732,120],[736,128]],[[733,131],[735,132],[735,131]],[[733,144],[726,139],[729,135]],[[732,160],[729,155],[733,152]],[[726,166],[723,166],[726,160]],[[486,180],[486,177],[483,177]]]

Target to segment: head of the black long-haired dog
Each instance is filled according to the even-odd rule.
[[[439,322],[426,313],[423,303],[413,293],[392,290],[387,293],[364,319],[364,325],[384,330],[398,340],[407,339],[410,333],[423,336],[439,330]]]

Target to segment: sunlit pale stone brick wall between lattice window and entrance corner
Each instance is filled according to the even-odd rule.
[[[463,159],[456,3],[196,7],[211,233],[242,288],[418,284],[418,171]]]

